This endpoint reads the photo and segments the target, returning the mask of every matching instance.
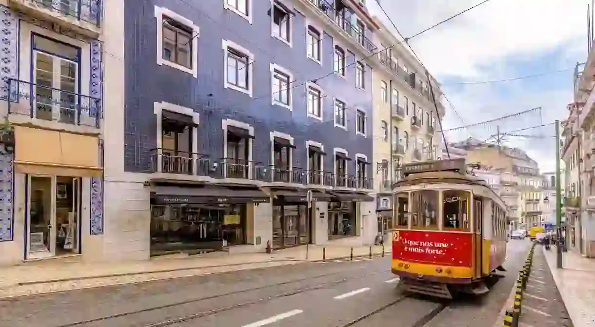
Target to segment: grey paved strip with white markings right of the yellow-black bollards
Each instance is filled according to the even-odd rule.
[[[530,326],[571,327],[572,321],[540,247],[537,246],[533,256],[533,268],[523,293],[519,321]]]

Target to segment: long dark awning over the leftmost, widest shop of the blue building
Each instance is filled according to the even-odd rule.
[[[157,186],[151,190],[151,203],[155,205],[259,203],[270,200],[270,196],[255,189]]]

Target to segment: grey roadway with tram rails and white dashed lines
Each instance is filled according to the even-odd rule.
[[[390,258],[377,257],[12,298],[0,301],[0,326],[420,327],[436,314],[425,326],[493,325],[528,246],[509,243],[508,272],[490,294],[447,307],[404,297]]]

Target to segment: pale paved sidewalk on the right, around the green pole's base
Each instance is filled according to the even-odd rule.
[[[556,269],[556,247],[543,252],[574,326],[595,326],[595,259],[563,252],[564,269]]]

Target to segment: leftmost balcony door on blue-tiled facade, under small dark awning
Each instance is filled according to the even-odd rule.
[[[192,174],[192,128],[196,124],[188,115],[161,111],[162,172]]]

